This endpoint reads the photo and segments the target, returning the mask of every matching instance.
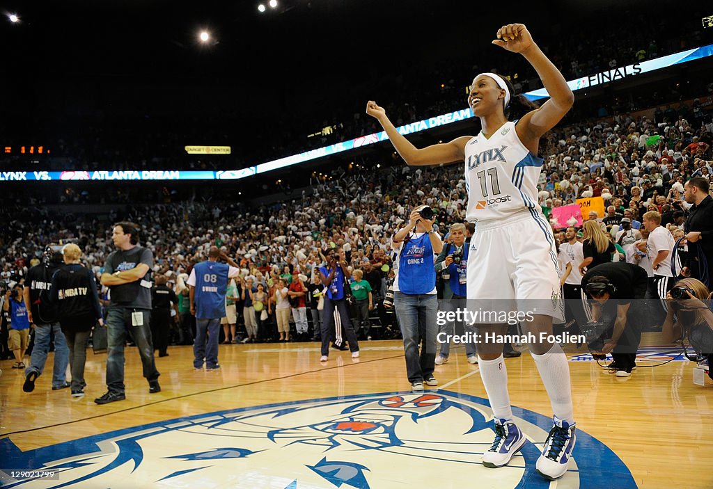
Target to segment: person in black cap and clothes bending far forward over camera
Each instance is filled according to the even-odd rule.
[[[646,270],[621,261],[590,268],[582,278],[586,298],[593,300],[591,322],[583,327],[583,333],[593,356],[612,353],[610,369],[617,377],[629,377],[636,366],[641,328],[632,318],[639,319],[642,310],[638,305],[646,297],[647,284]]]

